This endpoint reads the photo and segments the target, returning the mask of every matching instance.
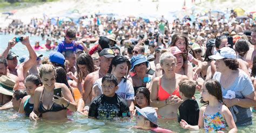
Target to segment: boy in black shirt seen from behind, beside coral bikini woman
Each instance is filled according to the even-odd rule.
[[[183,119],[190,125],[198,125],[199,107],[197,101],[192,99],[196,87],[197,83],[192,80],[182,80],[179,83],[179,94],[184,102],[179,106],[178,122]]]

